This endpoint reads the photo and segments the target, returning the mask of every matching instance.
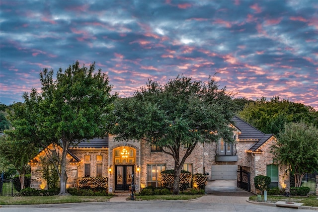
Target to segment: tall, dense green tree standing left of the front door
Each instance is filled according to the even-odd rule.
[[[21,136],[33,139],[46,150],[58,172],[61,195],[67,194],[68,149],[80,141],[104,137],[109,128],[109,115],[117,93],[110,94],[112,86],[107,74],[100,69],[94,71],[95,63],[86,68],[80,67],[77,61],[65,71],[59,69],[54,80],[54,71],[43,69],[42,92],[32,88],[30,94],[23,95],[28,119],[16,117],[16,126],[13,125]],[[53,151],[45,148],[50,143],[61,146],[62,156],[56,148]]]

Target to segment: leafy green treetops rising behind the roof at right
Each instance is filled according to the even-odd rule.
[[[313,107],[286,99],[280,100],[278,96],[270,100],[262,97],[249,102],[239,116],[258,130],[275,135],[283,130],[285,123],[304,120],[318,126],[318,111]]]

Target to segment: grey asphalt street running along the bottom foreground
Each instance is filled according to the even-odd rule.
[[[136,201],[41,206],[2,206],[0,212],[313,212],[254,204]]]

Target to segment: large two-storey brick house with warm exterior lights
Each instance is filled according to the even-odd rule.
[[[238,187],[255,193],[254,176],[271,177],[271,185],[285,188],[289,181],[286,167],[273,164],[270,146],[276,142],[272,134],[264,134],[238,117],[235,125],[234,144],[198,143],[186,159],[184,169],[192,174],[205,173],[208,179],[235,179]],[[70,148],[67,155],[67,187],[77,187],[80,177],[107,177],[108,191],[126,191],[132,183],[136,190],[153,185],[161,186],[160,172],[173,169],[174,160],[144,140],[115,141],[115,136],[81,142]],[[47,148],[53,148],[52,145]],[[55,146],[60,149],[61,147]],[[186,146],[184,146],[184,151]],[[182,152],[181,154],[182,155]],[[31,161],[31,187],[47,188],[42,178],[41,151]]]

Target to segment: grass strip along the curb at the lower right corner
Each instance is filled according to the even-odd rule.
[[[249,197],[249,200],[257,202],[257,196]],[[264,195],[262,195],[262,201],[264,201]],[[309,197],[284,197],[267,195],[267,203],[276,203],[277,201],[303,203],[303,206],[318,207],[317,196],[314,195],[310,195]]]

